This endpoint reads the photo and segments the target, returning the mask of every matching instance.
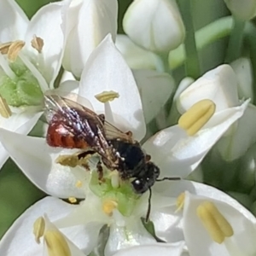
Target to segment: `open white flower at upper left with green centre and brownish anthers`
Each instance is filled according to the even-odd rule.
[[[2,50],[0,52],[2,128],[26,134],[41,115],[38,111],[42,108],[43,93],[53,88],[61,67],[63,4],[50,3],[39,9],[29,21],[15,1],[3,0],[0,3],[0,42],[11,42],[8,43],[7,55]],[[42,49],[42,45],[36,45],[40,39],[44,41]],[[20,49],[15,52],[14,46]],[[3,112],[8,113],[5,118]],[[2,145],[0,155],[0,166],[3,166],[8,154]]]

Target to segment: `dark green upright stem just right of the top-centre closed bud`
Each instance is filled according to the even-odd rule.
[[[185,68],[186,75],[197,79],[201,75],[199,57],[195,44],[195,29],[192,17],[191,1],[179,0],[178,5],[181,10],[183,22],[186,28],[186,38],[184,42],[184,49],[186,54]]]

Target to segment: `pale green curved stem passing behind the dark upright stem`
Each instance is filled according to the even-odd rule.
[[[208,44],[212,44],[220,38],[225,38],[230,35],[233,26],[233,18],[231,16],[215,20],[207,26],[202,27],[195,32],[195,42],[197,50],[200,51]],[[172,69],[180,67],[185,61],[184,44],[181,44],[177,49],[174,49],[169,54],[169,66]]]

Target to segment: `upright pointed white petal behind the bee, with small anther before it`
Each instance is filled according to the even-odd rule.
[[[143,106],[131,69],[108,35],[93,51],[84,67],[79,96],[88,98],[97,113],[104,113],[104,104],[95,96],[113,90],[119,98],[109,102],[114,124],[122,131],[132,131],[137,140],[145,135]]]

